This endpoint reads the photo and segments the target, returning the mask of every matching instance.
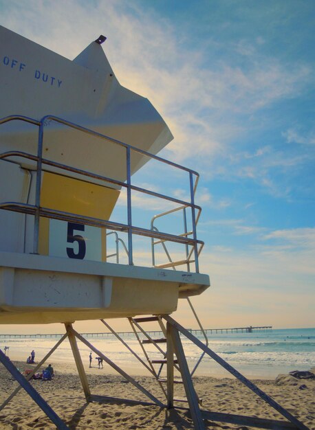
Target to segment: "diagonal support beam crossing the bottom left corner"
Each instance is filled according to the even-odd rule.
[[[6,367],[8,372],[12,374],[14,379],[17,380],[17,382],[22,386],[23,389],[25,389],[25,392],[28,393],[30,397],[34,400],[37,405],[43,410],[43,412],[47,415],[52,422],[54,422],[54,425],[56,425],[58,430],[69,430],[69,427],[65,425],[63,420],[59,418],[59,416],[56,414],[56,412],[48,405],[48,403],[41,397],[41,395],[36,392],[36,389],[28,382],[26,381],[25,377],[17,370],[17,367],[14,366],[14,364],[6,357],[6,355],[0,350],[0,361]]]

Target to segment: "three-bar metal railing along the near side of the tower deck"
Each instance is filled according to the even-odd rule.
[[[4,117],[0,119],[0,125],[5,124],[12,121],[23,121],[28,122],[30,124],[34,124],[35,126],[39,127],[39,137],[38,137],[38,144],[37,144],[37,155],[30,154],[28,152],[23,151],[17,151],[17,150],[11,150],[8,152],[3,152],[0,154],[0,159],[10,159],[10,161],[14,163],[18,163],[16,160],[14,161],[13,157],[22,157],[24,159],[30,159],[36,163],[36,193],[35,193],[35,203],[34,205],[31,205],[29,203],[20,203],[17,201],[6,201],[0,203],[0,209],[3,210],[12,210],[14,212],[22,212],[24,214],[32,214],[34,216],[34,242],[33,242],[33,252],[39,253],[39,224],[40,224],[40,218],[46,217],[46,218],[54,218],[58,220],[65,220],[67,222],[75,222],[80,223],[84,225],[92,225],[95,227],[106,227],[107,229],[111,229],[113,231],[124,231],[128,235],[128,246],[126,248],[127,255],[128,255],[128,262],[130,265],[133,264],[133,240],[132,236],[140,235],[140,236],[146,236],[153,240],[158,240],[161,242],[177,242],[180,244],[183,244],[186,249],[188,247],[191,247],[191,253],[190,256],[194,254],[194,262],[195,262],[195,271],[199,272],[199,263],[198,263],[198,256],[199,253],[204,246],[204,242],[202,240],[197,239],[197,232],[196,232],[196,222],[197,219],[200,216],[201,207],[198,205],[195,205],[195,188],[197,186],[197,182],[199,179],[199,174],[195,172],[194,170],[185,168],[184,166],[180,166],[177,163],[173,163],[172,161],[163,159],[162,157],[158,157],[157,155],[150,154],[149,152],[146,152],[144,150],[141,150],[140,148],[135,148],[134,146],[130,146],[128,144],[124,144],[123,142],[118,141],[117,139],[113,139],[109,136],[102,135],[101,133],[98,133],[96,131],[92,131],[89,128],[85,128],[83,126],[79,126],[78,124],[74,124],[72,122],[65,121],[61,118],[47,115],[41,119],[41,121],[34,120],[30,117],[25,117],[21,115],[11,115],[8,117]],[[63,124],[64,126],[67,126],[69,128],[72,128],[74,130],[80,131],[82,133],[85,133],[87,135],[91,135],[93,137],[97,137],[99,139],[103,139],[107,142],[112,142],[113,144],[116,144],[126,151],[126,177],[127,180],[125,182],[118,181],[117,179],[113,179],[110,177],[105,177],[100,174],[96,174],[93,172],[89,172],[87,170],[74,168],[72,166],[65,165],[63,163],[58,163],[56,161],[52,161],[50,159],[43,158],[43,135],[44,135],[44,128],[45,124],[47,122],[56,122],[58,124]],[[171,196],[166,196],[165,194],[160,194],[158,192],[154,192],[152,190],[148,190],[146,188],[140,188],[136,185],[133,185],[131,182],[131,153],[135,152],[140,155],[143,155],[144,157],[149,157],[149,159],[154,159],[156,161],[159,161],[161,163],[167,164],[169,166],[173,166],[173,168],[177,168],[179,170],[182,170],[184,172],[187,172],[188,179],[189,179],[189,189],[190,189],[190,201],[183,201],[180,199],[175,199]],[[103,183],[107,184],[113,184],[116,187],[124,188],[127,190],[127,224],[124,223],[116,223],[111,220],[106,219],[100,219],[100,218],[93,218],[90,216],[83,216],[80,214],[74,214],[71,212],[63,212],[60,210],[53,210],[50,207],[42,207],[41,206],[41,181],[42,181],[42,174],[43,174],[43,166],[50,166],[53,168],[60,169],[62,172],[72,172],[73,174],[81,175],[83,177],[88,177],[90,179],[95,179],[97,181],[102,181]],[[58,174],[54,172],[55,174]],[[65,174],[65,173],[63,173]],[[132,224],[132,205],[131,205],[131,192],[140,192],[142,194],[146,194],[149,196],[157,197],[159,199],[163,199],[165,201],[170,201],[173,203],[176,203],[177,205],[180,205],[180,207],[176,210],[181,210],[182,207],[191,210],[191,219],[192,219],[192,231],[189,233],[186,233],[184,235],[175,235],[175,234],[169,234],[162,231],[157,231],[156,229],[144,229],[142,227],[136,227]],[[197,210],[197,217],[195,214],[195,211]],[[161,214],[160,216],[162,216]],[[157,216],[158,217],[158,216]],[[192,237],[189,237],[192,236]],[[188,254],[189,255],[189,254]],[[189,257],[190,258],[190,257]],[[186,258],[187,260],[187,258]],[[182,264],[182,263],[181,263]],[[154,264],[153,264],[154,265]]]

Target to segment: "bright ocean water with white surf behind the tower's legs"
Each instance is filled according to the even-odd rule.
[[[198,339],[204,341],[202,336],[198,336]],[[89,336],[87,340],[120,367],[128,367],[132,374],[146,374],[146,370],[140,370],[140,363],[113,335]],[[124,340],[140,357],[143,357],[140,345],[134,337],[126,336]],[[35,361],[39,361],[57,341],[58,338],[55,337],[25,339],[6,337],[6,339],[0,338],[0,348],[3,350],[5,346],[9,347],[7,354],[12,361],[24,359],[26,361],[30,352],[35,350]],[[269,379],[292,370],[309,370],[315,367],[315,328],[290,328],[252,333],[213,333],[208,335],[208,341],[210,349],[248,378]],[[188,365],[192,370],[202,351],[188,339],[182,339],[182,343]],[[89,348],[80,341],[78,341],[78,348],[83,362],[87,364]],[[165,346],[162,346],[163,348],[165,349]],[[154,346],[149,345],[146,350],[150,359],[162,358]],[[93,357],[96,357],[94,352]],[[74,361],[69,341],[65,340],[49,360],[54,363],[54,367],[61,361]],[[195,375],[231,376],[208,356],[204,357]]]

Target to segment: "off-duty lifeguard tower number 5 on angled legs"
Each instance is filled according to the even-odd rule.
[[[97,396],[91,394],[76,339],[161,407],[174,407],[177,367],[195,427],[203,429],[210,412],[199,409],[182,332],[202,348],[202,355],[243,378],[296,428],[306,429],[170,317],[178,299],[189,299],[210,285],[208,275],[199,273],[204,246],[196,227],[199,175],[157,155],[173,136],[149,100],[120,85],[103,52],[104,41],[100,36],[71,61],[0,27],[0,324],[65,324],[65,336],[39,366],[68,338],[89,401]],[[152,187],[133,181],[146,163],[152,168],[145,182]],[[164,179],[168,169],[182,175],[186,198],[159,188],[157,177]],[[162,211],[139,225],[143,217],[135,202],[144,197]],[[165,400],[144,389],[72,327],[74,321],[100,319],[111,330],[105,319],[120,317],[129,318],[133,329],[146,321],[160,324],[166,388],[153,363],[138,359],[157,378]],[[146,341],[158,343],[150,337]],[[56,426],[66,429],[1,350],[0,359]]]

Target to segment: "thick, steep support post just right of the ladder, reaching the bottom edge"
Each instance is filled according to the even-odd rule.
[[[191,418],[193,418],[193,423],[196,430],[204,430],[204,420],[202,419],[202,414],[199,409],[198,398],[195,392],[195,387],[193,386],[193,381],[191,380],[191,374],[188,369],[182,342],[180,340],[180,333],[178,332],[177,328],[173,326],[173,324],[168,324],[168,326],[169,330],[171,331],[175,354],[178,363],[180,364],[180,372],[182,374],[189,410],[191,411]]]

